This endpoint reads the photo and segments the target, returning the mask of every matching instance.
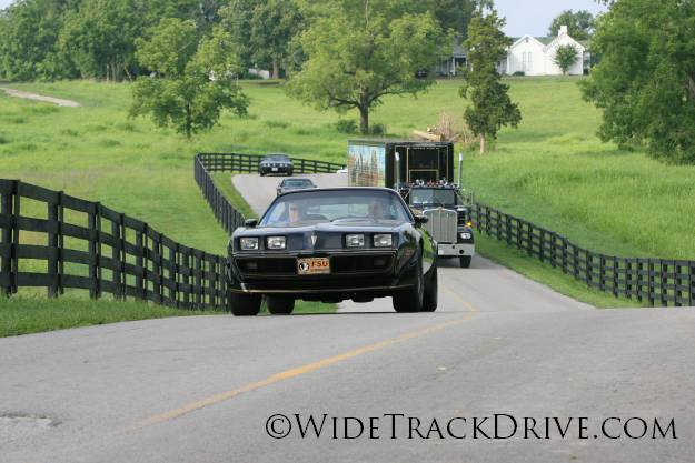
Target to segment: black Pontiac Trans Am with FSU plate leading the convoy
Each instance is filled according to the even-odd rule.
[[[397,312],[437,309],[437,244],[394,190],[304,190],[275,199],[229,241],[231,312],[274,314],[295,301],[370,302]]]

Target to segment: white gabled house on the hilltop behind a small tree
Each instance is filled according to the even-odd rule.
[[[507,53],[506,61],[499,63],[499,72],[514,74],[524,72],[526,76],[562,76],[563,71],[555,64],[555,52],[558,47],[570,44],[577,49],[577,62],[567,71],[570,76],[582,76],[588,69],[589,53],[586,47],[567,33],[567,26],[562,26],[555,38],[536,38],[524,36],[517,39]]]

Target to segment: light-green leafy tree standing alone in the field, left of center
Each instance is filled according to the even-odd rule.
[[[157,125],[190,139],[214,127],[224,109],[246,114],[248,98],[235,79],[238,58],[222,29],[201,39],[192,20],[162,19],[149,41],[138,41],[137,58],[155,76],[135,83],[131,117],[151,114]]]

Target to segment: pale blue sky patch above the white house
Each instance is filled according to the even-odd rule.
[[[0,0],[0,8],[12,0]],[[507,18],[505,32],[510,37],[545,36],[548,27],[563,10],[605,11],[594,0],[495,0],[500,16]]]

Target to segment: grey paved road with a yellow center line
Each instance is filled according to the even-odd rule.
[[[435,313],[375,304],[363,308],[376,313],[150,320],[2,339],[0,461],[695,461],[693,309],[595,310],[484,260],[444,269],[440,294]],[[294,421],[276,440],[266,423],[278,413],[329,417],[319,439],[301,439]],[[522,429],[524,417],[574,421],[566,439],[555,429],[552,439],[474,439],[473,417],[495,413]],[[405,415],[393,419],[396,440],[385,414]],[[447,437],[457,416],[467,422],[455,420],[451,433],[465,440]],[[678,439],[604,437],[602,420],[613,416],[673,417]],[[366,431],[332,439],[331,417],[339,437],[345,422],[358,433],[356,419]],[[380,439],[368,439],[369,417],[380,417]],[[408,439],[416,417],[423,435],[436,419],[446,439]],[[509,423],[500,419],[502,436]],[[490,434],[489,424],[480,430]]]

